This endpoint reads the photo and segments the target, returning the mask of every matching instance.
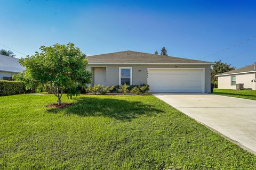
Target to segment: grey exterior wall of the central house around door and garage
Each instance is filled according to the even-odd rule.
[[[205,92],[211,91],[211,67],[210,65],[88,65],[89,70],[93,67],[106,67],[106,85],[119,84],[119,67],[132,67],[132,84],[147,83],[148,68],[204,68],[205,69]],[[93,85],[94,81],[92,81]]]

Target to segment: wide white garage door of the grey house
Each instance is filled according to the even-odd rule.
[[[148,69],[150,92],[204,92],[203,69]]]

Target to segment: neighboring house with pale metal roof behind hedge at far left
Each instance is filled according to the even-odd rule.
[[[18,60],[18,58],[0,54],[0,80],[11,80],[13,74],[26,70]]]

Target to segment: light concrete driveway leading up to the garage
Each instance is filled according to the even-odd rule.
[[[256,155],[256,100],[211,94],[154,94]]]

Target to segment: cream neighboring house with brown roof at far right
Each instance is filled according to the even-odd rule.
[[[240,69],[216,75],[219,89],[236,89],[236,84],[244,84],[244,88],[256,90],[256,65],[248,65]]]

